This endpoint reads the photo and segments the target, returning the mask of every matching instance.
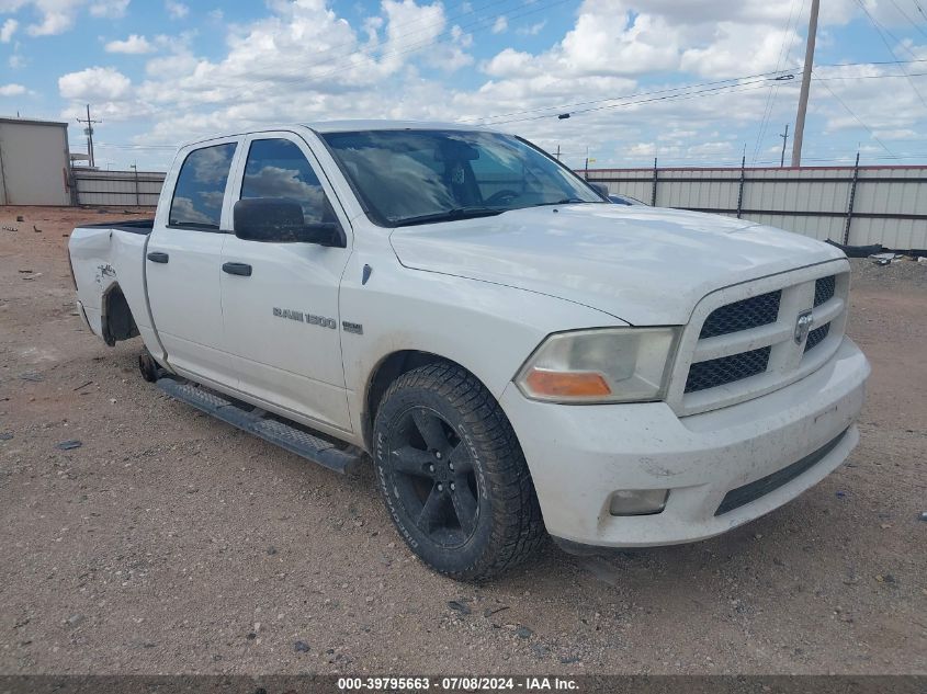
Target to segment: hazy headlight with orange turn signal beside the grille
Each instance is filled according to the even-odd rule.
[[[641,402],[666,396],[678,328],[600,328],[549,337],[516,384],[553,402]]]

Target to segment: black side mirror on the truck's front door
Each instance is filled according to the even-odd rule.
[[[343,244],[337,221],[306,224],[302,205],[286,197],[239,200],[233,219],[235,236],[245,241]]]

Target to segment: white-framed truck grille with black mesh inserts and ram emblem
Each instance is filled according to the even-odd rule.
[[[669,401],[677,411],[742,402],[821,367],[843,338],[849,288],[847,272],[829,266],[829,272],[807,268],[705,297],[683,337],[688,346],[680,346],[680,355],[691,356],[675,372]],[[813,322],[803,334],[799,317],[807,312]]]

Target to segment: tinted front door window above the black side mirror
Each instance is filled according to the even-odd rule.
[[[251,143],[241,182],[241,200],[285,197],[299,203],[305,224],[335,221],[325,191],[299,148],[289,139]]]

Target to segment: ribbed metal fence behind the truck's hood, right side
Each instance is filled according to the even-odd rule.
[[[927,249],[927,167],[597,169],[647,204],[727,215],[849,246]]]

